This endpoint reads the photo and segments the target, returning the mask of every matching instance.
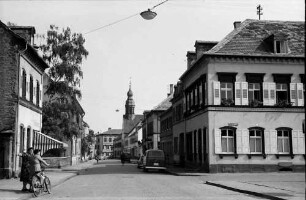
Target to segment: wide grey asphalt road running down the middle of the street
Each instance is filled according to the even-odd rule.
[[[34,199],[34,198],[33,198]],[[199,176],[174,176],[158,171],[143,172],[135,164],[101,161],[52,188],[52,194],[35,199],[52,200],[203,200],[259,199],[204,184]]]

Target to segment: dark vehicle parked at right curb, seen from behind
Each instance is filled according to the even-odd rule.
[[[158,169],[164,171],[166,169],[165,154],[162,150],[149,149],[143,157],[143,171],[149,169]]]

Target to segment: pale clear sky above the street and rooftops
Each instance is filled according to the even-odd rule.
[[[34,26],[38,34],[51,24],[83,34],[89,55],[82,64],[80,104],[95,132],[122,128],[130,81],[135,114],[151,110],[187,69],[186,53],[196,40],[222,40],[233,22],[258,19],[257,5],[261,20],[305,21],[304,0],[169,0],[154,9],[153,20],[137,15],[162,2],[0,0],[0,20]]]

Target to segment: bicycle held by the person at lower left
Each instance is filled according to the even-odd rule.
[[[49,177],[47,177],[43,171],[40,172],[41,178],[44,179],[43,183],[41,184],[38,176],[39,174],[35,174],[31,181],[34,196],[37,197],[43,192],[48,192],[48,194],[51,194],[51,181]]]

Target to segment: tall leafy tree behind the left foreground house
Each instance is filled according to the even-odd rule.
[[[45,94],[50,100],[43,104],[42,130],[57,139],[71,139],[78,135],[78,124],[73,120],[81,113],[78,99],[83,78],[82,61],[88,51],[84,47],[82,34],[72,33],[70,28],[62,29],[51,25],[46,41],[40,45],[43,59],[49,64],[49,84]]]

